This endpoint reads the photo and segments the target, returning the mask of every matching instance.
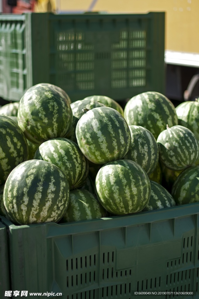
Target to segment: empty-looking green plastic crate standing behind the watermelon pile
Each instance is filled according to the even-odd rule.
[[[165,13],[0,15],[0,96],[42,82],[72,101],[165,92]]]

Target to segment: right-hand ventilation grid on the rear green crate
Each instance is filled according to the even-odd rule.
[[[111,48],[114,49],[111,53],[111,87],[145,86],[146,32],[143,30],[121,31],[120,42],[112,44]],[[122,72],[118,71],[119,69],[125,70]]]

